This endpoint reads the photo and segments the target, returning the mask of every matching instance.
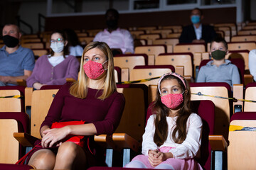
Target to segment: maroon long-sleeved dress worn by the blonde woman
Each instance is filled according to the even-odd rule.
[[[114,91],[110,97],[105,98],[105,100],[102,101],[97,97],[102,94],[103,90],[88,88],[86,98],[81,99],[70,95],[70,86],[71,84],[67,83],[60,88],[53,99],[53,103],[50,106],[48,115],[43,121],[41,128],[44,125],[50,127],[52,123],[55,122],[84,120],[85,123],[93,123],[95,125],[97,130],[96,135],[111,135],[119,125],[122,112],[124,111],[125,99],[123,94]],[[100,157],[102,157],[103,153],[99,153],[102,152],[102,149],[100,149],[93,140],[90,140],[90,149],[92,152],[96,152],[96,156],[98,155],[100,157],[90,155],[87,145],[85,145],[83,149],[85,150],[87,158],[89,158],[87,159],[89,165],[97,165],[99,164],[99,160],[100,163],[102,163],[103,159],[100,159]],[[57,151],[58,149],[53,149],[53,152]]]

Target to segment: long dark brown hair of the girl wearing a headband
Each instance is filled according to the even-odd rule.
[[[176,126],[174,127],[174,130],[171,134],[171,139],[175,143],[181,144],[186,139],[186,122],[188,120],[189,115],[191,115],[191,91],[186,80],[185,88],[183,82],[181,81],[181,79],[178,79],[178,77],[168,75],[164,77],[162,81],[166,79],[176,79],[178,81],[178,84],[181,86],[182,90],[187,90],[183,93],[183,103],[181,103],[181,108],[177,114],[178,118],[176,119]],[[154,114],[156,114],[156,118],[154,120],[154,124],[156,127],[154,133],[154,142],[156,143],[157,146],[161,146],[164,144],[168,136],[168,124],[166,121],[166,116],[169,115],[170,110],[161,102],[161,96],[158,90],[156,92],[156,99],[152,105],[152,111]],[[178,137],[176,137],[176,134],[178,134]]]

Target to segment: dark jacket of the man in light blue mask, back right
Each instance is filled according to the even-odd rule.
[[[206,43],[211,42],[215,38],[216,33],[213,26],[202,25],[202,37],[201,39],[205,40]],[[183,27],[181,36],[179,38],[180,43],[191,43],[193,40],[196,40],[196,32],[193,25]]]

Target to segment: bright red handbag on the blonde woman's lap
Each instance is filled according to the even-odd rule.
[[[63,128],[64,126],[67,125],[83,125],[85,124],[85,121],[70,121],[70,122],[55,122],[51,125],[51,129],[53,128]],[[84,145],[84,141],[82,140],[84,138],[84,136],[79,136],[79,135],[74,135],[72,137],[70,137],[68,140],[68,142],[74,142],[75,144],[79,145],[80,147],[83,147]]]

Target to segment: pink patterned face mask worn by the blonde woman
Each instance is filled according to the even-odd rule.
[[[103,62],[102,64],[92,61],[86,62],[83,68],[87,77],[89,77],[90,79],[97,79],[98,77],[100,77],[100,75],[105,72],[103,64],[105,64],[106,62],[107,61]]]

